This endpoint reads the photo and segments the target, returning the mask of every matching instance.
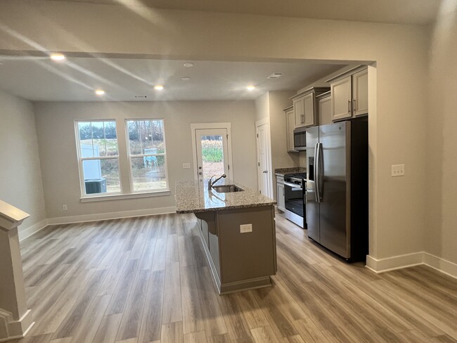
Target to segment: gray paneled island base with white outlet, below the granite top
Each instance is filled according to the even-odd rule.
[[[271,285],[270,276],[276,274],[273,205],[196,212],[195,216],[200,219],[202,246],[220,295]]]

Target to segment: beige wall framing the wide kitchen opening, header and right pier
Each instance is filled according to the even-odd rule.
[[[375,61],[369,71],[369,79],[375,73],[369,90],[370,254],[382,259],[423,250],[427,27],[153,9],[139,15],[123,6],[39,0],[1,1],[0,22],[9,27],[0,30],[0,48],[12,50]],[[390,167],[398,163],[406,164],[406,176],[392,178]]]

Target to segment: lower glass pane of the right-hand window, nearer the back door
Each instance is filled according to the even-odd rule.
[[[167,189],[165,156],[131,157],[134,192]]]

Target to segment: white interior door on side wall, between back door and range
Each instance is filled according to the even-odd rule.
[[[269,154],[269,124],[262,124],[257,131],[257,174],[259,193],[273,198],[270,187],[270,154]]]

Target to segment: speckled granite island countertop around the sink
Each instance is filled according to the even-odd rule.
[[[233,193],[218,193],[214,189],[208,190],[207,180],[176,181],[174,195],[174,198],[176,198],[176,213],[210,212],[276,204],[273,199],[267,198],[256,190],[247,188],[230,179],[221,179],[214,186],[233,184],[244,190]]]

